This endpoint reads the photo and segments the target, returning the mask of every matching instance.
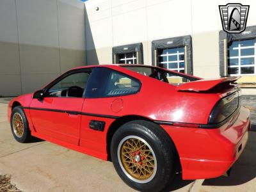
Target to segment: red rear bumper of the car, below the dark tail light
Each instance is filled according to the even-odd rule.
[[[250,111],[244,107],[216,129],[163,125],[180,156],[182,179],[220,177],[236,162],[248,141]]]

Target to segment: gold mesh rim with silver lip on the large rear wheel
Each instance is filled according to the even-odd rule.
[[[156,175],[156,156],[148,143],[138,136],[124,138],[118,146],[118,161],[130,179],[146,183]]]

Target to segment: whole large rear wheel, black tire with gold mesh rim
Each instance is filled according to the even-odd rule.
[[[152,122],[122,125],[111,141],[116,172],[131,188],[161,191],[173,178],[174,148],[167,133]]]

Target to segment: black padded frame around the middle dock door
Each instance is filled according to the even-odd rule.
[[[158,51],[184,47],[184,73],[193,75],[192,38],[190,35],[152,41],[152,65],[159,67]],[[179,65],[179,63],[178,63]],[[179,66],[178,66],[179,68]],[[172,68],[172,70],[175,70]]]

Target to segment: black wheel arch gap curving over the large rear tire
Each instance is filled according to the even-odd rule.
[[[110,146],[111,146],[111,140],[113,138],[113,135],[115,134],[116,130],[118,130],[119,127],[126,124],[127,122],[131,122],[132,120],[145,120],[145,121],[152,122],[152,123],[156,124],[156,122],[154,122],[154,120],[147,118],[145,116],[139,116],[139,115],[126,115],[126,116],[116,118],[116,120],[114,122],[112,122],[112,124],[109,126],[107,136],[106,136],[107,152],[108,152],[108,160],[109,161],[111,161]],[[163,129],[163,127],[161,127],[161,125],[159,125],[159,124],[157,124],[157,125],[158,125],[159,129]],[[163,129],[163,131],[164,131],[164,129]],[[182,170],[182,168],[181,168],[181,164],[180,164],[180,156],[177,151],[177,147],[175,146],[175,143],[173,142],[170,135],[166,131],[164,131],[164,132],[166,133],[166,135],[168,136],[170,141],[173,143],[173,146],[175,147],[175,157],[176,157],[175,164],[177,164],[177,170],[175,170],[175,172],[180,172]]]

